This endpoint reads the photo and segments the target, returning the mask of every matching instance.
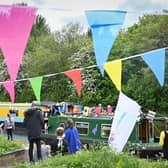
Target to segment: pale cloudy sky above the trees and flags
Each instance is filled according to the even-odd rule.
[[[163,9],[168,10],[168,0],[0,0],[0,4],[6,5],[21,2],[38,8],[38,14],[46,18],[52,31],[60,30],[69,22],[79,22],[87,28],[86,10],[127,11],[124,28],[138,22],[143,14],[160,14]]]

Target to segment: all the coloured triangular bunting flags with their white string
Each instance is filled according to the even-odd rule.
[[[33,7],[0,5],[0,46],[10,76],[9,81],[3,81],[0,82],[0,84],[2,84],[8,91],[12,102],[14,102],[15,98],[14,82],[29,80],[37,100],[40,101],[40,91],[43,77],[52,77],[62,73],[73,80],[78,96],[80,96],[82,88],[81,70],[94,67],[98,67],[100,69],[102,76],[104,76],[105,69],[116,88],[121,91],[122,61],[137,56],[142,57],[155,74],[160,85],[163,86],[166,48],[107,62],[113,43],[121,30],[127,14],[126,11],[120,10],[85,11],[88,25],[92,31],[97,65],[55,74],[47,74],[34,78],[16,80],[36,12],[37,9]],[[13,27],[13,29],[10,29],[11,27]],[[155,59],[153,59],[154,57]]]

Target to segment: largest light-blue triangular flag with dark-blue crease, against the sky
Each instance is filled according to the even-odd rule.
[[[86,11],[92,31],[96,62],[104,75],[104,64],[108,59],[113,43],[123,25],[126,12],[116,10]]]

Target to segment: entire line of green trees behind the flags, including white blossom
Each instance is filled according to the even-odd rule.
[[[167,11],[164,11],[167,14]],[[168,15],[144,15],[137,24],[122,30],[111,50],[108,61],[168,46]],[[167,55],[167,53],[166,53]],[[2,60],[2,54],[0,60]],[[166,57],[166,65],[168,59]],[[74,101],[88,106],[102,103],[116,105],[118,91],[105,73],[102,77],[96,65],[91,32],[83,33],[78,23],[69,23],[61,30],[51,32],[45,18],[38,16],[23,57],[18,79],[44,76],[41,100]],[[73,82],[62,72],[81,68],[82,92],[78,97]],[[0,63],[1,81],[9,79],[5,62]],[[160,87],[155,76],[141,57],[123,61],[122,91],[137,101],[143,111],[153,110],[165,114],[168,108],[168,70],[165,85]],[[35,99],[28,82],[17,82],[16,101]],[[9,100],[5,89],[0,88],[1,101]]]

